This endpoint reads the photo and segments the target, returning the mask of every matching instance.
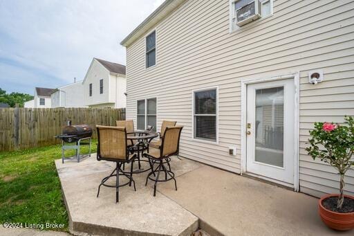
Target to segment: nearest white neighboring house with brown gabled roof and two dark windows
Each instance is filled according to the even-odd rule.
[[[125,66],[121,64],[93,58],[82,85],[88,107],[126,106]]]

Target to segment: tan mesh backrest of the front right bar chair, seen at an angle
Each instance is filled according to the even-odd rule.
[[[180,132],[183,126],[167,126],[165,134],[162,137],[161,154],[162,156],[169,156],[178,153],[180,145]]]

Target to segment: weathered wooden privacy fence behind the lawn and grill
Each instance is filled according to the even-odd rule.
[[[73,125],[115,126],[125,120],[125,109],[111,108],[5,108],[0,109],[0,151],[40,147],[60,143],[54,138],[62,134],[67,120]]]

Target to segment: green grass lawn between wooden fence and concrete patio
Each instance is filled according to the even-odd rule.
[[[68,215],[54,163],[61,158],[60,147],[0,152],[0,224],[64,224],[64,228],[52,230],[68,230]],[[91,152],[95,153],[96,148],[93,140]],[[88,146],[81,150],[88,153]]]

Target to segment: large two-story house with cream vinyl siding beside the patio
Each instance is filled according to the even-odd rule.
[[[252,4],[162,3],[121,42],[127,119],[158,131],[176,120],[180,156],[317,197],[337,192],[338,174],[305,148],[314,122],[354,116],[354,1]],[[354,171],[346,178],[354,194]]]

